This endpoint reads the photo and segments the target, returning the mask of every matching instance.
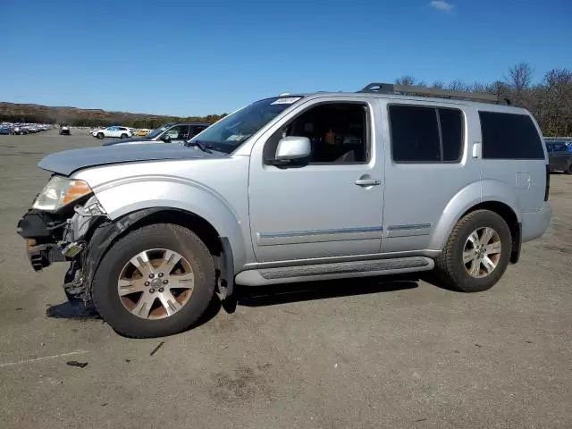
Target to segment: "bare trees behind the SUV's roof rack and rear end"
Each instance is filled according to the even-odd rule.
[[[414,76],[405,75],[395,80],[398,85],[443,88],[467,93],[492,93],[509,98],[511,105],[529,110],[543,130],[545,137],[572,135],[572,70],[552,69],[543,79],[533,81],[534,70],[529,63],[518,63],[494,82],[466,83],[453,80],[445,84],[435,81],[427,85]]]

